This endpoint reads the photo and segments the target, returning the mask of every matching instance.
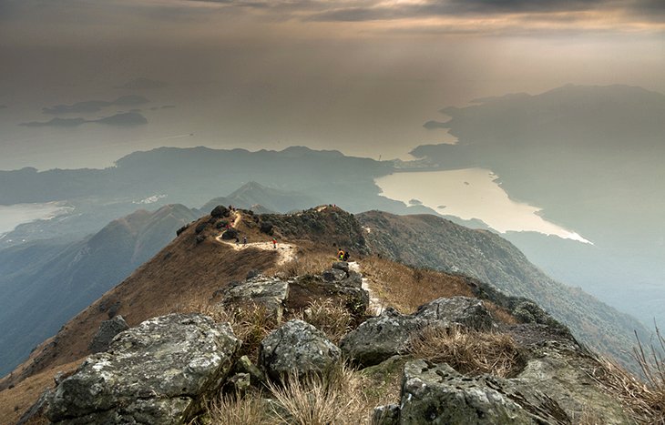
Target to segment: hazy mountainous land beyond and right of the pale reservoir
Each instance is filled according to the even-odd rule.
[[[665,326],[665,95],[563,86],[479,102],[442,110],[455,145],[417,147],[414,156],[443,168],[491,169],[511,198],[594,243],[567,255],[538,235],[509,236],[520,248],[598,298]]]

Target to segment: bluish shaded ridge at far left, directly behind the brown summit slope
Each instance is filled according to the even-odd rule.
[[[0,250],[0,375],[199,217],[181,205],[139,210],[75,242]]]

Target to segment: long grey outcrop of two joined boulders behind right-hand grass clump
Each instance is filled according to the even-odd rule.
[[[455,324],[476,330],[494,326],[485,305],[478,299],[435,299],[421,306],[414,315],[404,316],[394,309],[385,309],[380,316],[366,320],[344,336],[340,348],[350,359],[371,366],[403,354],[409,340],[425,327],[447,328]]]

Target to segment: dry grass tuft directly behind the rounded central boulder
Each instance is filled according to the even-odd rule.
[[[353,323],[351,312],[339,299],[314,299],[307,309],[295,314],[295,319],[310,323],[335,344],[351,330]]]

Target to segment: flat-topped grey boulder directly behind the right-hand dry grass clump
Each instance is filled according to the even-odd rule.
[[[494,320],[483,301],[467,297],[435,299],[420,306],[415,317],[459,323],[476,330],[489,330],[494,327]]]

